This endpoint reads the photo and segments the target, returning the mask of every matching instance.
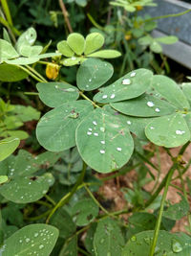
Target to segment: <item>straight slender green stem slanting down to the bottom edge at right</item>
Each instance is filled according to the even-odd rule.
[[[166,178],[165,188],[164,188],[164,193],[163,193],[162,198],[161,198],[161,203],[160,203],[160,208],[159,208],[159,216],[158,216],[158,220],[157,220],[157,223],[156,223],[153,243],[151,245],[151,250],[150,250],[150,254],[149,254],[150,256],[153,256],[154,253],[155,253],[155,248],[156,248],[156,244],[158,242],[158,237],[159,237],[159,227],[160,227],[160,223],[161,223],[165,198],[166,198],[166,195],[167,195],[167,192],[168,192],[168,187],[169,187],[172,175],[174,174],[174,171],[175,171],[175,169],[172,168],[171,171],[168,173],[167,178]]]

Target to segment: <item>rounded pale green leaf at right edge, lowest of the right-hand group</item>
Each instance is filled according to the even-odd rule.
[[[145,128],[147,138],[166,148],[179,147],[190,140],[190,131],[182,114],[175,113],[153,120]]]

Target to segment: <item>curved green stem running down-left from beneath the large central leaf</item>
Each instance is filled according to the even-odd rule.
[[[50,215],[49,215],[48,218],[47,218],[46,223],[49,223],[49,221],[50,221],[50,219],[52,218],[54,212],[55,212],[58,208],[62,207],[64,204],[66,204],[66,203],[70,200],[70,198],[72,198],[72,197],[74,196],[75,191],[77,190],[78,186],[80,186],[81,183],[82,183],[82,181],[83,181],[84,175],[85,175],[85,173],[86,173],[86,169],[87,169],[87,165],[86,165],[85,162],[83,162],[83,169],[82,169],[82,172],[81,172],[81,174],[79,175],[79,177],[78,177],[76,183],[74,184],[74,187],[73,187],[72,191],[69,192],[67,195],[65,195],[63,198],[61,198],[61,199],[55,204],[55,206],[53,207],[53,210],[51,211]]]

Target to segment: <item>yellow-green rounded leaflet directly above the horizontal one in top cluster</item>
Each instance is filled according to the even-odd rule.
[[[104,36],[99,33],[91,33],[86,36],[84,54],[89,55],[101,48],[104,44]]]

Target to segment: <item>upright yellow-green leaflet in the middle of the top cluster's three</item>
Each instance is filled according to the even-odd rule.
[[[67,43],[76,55],[80,56],[84,52],[85,39],[83,35],[72,33],[67,37]]]

